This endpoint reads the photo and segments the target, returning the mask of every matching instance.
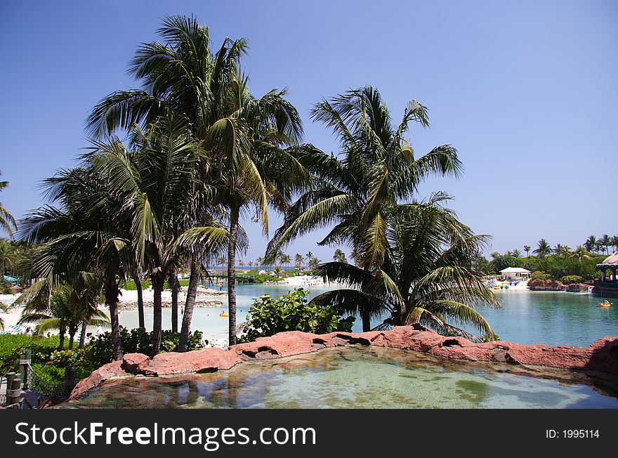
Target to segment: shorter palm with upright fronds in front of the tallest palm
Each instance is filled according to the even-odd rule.
[[[138,261],[150,274],[154,292],[152,351],[156,355],[161,346],[165,280],[175,278],[173,289],[177,294],[177,266],[192,251],[192,243],[202,247],[221,244],[227,241],[227,231],[221,224],[197,227],[203,215],[195,202],[206,192],[196,167],[202,152],[185,119],[170,112],[148,126],[147,131],[136,128],[130,133],[134,150],[114,138],[109,143],[95,143],[89,157],[110,178],[112,188],[119,199],[127,202],[131,213],[133,244]],[[177,300],[172,326],[178,327]]]

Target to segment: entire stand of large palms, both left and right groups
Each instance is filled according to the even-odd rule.
[[[358,313],[364,330],[381,317],[383,326],[421,322],[470,336],[460,325],[472,325],[494,337],[474,305],[498,302],[471,267],[487,236],[458,221],[444,193],[416,199],[426,177],[461,173],[452,146],[417,157],[406,139],[409,124],[429,126],[426,107],[412,100],[393,124],[371,86],[322,100],[312,117],[341,144],[337,154],[322,152],[301,143],[301,118],[285,90],[251,94],[242,72],[246,39],[226,38],[213,52],[208,27],[184,16],[164,19],[157,33],[162,42],[141,45],[129,67],[140,88],[114,92],[94,107],[86,122],[91,145],[79,165],[44,181],[48,204],[20,221],[20,240],[34,246],[30,272],[39,279],[29,299],[47,310],[76,308],[77,318],[53,325],[65,325],[72,341],[76,323],[98,320],[87,306],[98,284],[120,359],[119,284],[148,278],[158,353],[164,284],[171,280],[176,296],[176,330],[177,273],[187,265],[178,346],[186,351],[199,277],[223,260],[233,345],[236,256],[249,243],[240,218],[251,217],[268,235],[270,207],[284,224],[262,262],[291,263],[280,257],[284,246],[332,226],[319,244],[349,247],[356,265],[342,252],[328,263],[297,254],[294,263],[306,259],[317,275],[347,284],[314,300]],[[2,215],[4,227],[13,223]],[[49,318],[40,310],[32,315]],[[143,315],[142,306],[140,327]]]

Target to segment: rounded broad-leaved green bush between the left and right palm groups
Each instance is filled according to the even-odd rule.
[[[296,288],[279,299],[271,299],[268,294],[262,296],[249,308],[242,341],[254,341],[284,331],[327,334],[352,329],[354,317],[341,320],[331,306],[308,303],[308,295],[306,289]]]

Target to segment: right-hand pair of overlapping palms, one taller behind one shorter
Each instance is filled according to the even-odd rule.
[[[457,325],[472,325],[494,338],[474,308],[498,306],[482,273],[472,267],[488,237],[458,221],[445,205],[448,195],[414,198],[426,177],[461,173],[452,146],[416,157],[405,138],[412,122],[429,125],[426,107],[412,100],[393,124],[379,91],[367,86],[322,100],[312,117],[333,131],[341,150],[334,155],[310,144],[297,148],[312,186],[285,211],[267,257],[296,237],[331,226],[318,244],[349,247],[355,265],[336,259],[317,266],[316,275],[346,288],[313,301],[360,315],[364,331],[382,319],[381,327],[421,322],[466,336],[471,334]]]

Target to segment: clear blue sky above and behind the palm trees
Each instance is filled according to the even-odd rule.
[[[322,97],[372,84],[395,119],[409,99],[428,106],[431,129],[410,131],[416,152],[450,143],[465,175],[431,179],[421,195],[455,195],[452,207],[494,236],[492,249],[618,233],[612,0],[3,2],[0,169],[10,185],[0,201],[14,216],[39,207],[41,178],[74,164],[91,107],[135,86],[127,63],[159,19],[190,13],[216,46],[249,38],[252,91],[289,87],[305,140],[323,150],[334,139],[308,116]],[[245,259],[256,259],[265,240],[245,227]],[[330,259],[334,248],[315,245],[323,233],[287,252]]]

